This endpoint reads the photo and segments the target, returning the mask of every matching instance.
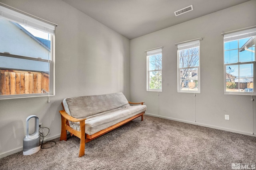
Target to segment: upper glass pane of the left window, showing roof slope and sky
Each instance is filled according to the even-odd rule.
[[[51,35],[0,18],[0,53],[51,59]]]

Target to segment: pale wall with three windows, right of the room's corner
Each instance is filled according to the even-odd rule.
[[[130,96],[145,101],[147,113],[166,119],[224,129],[246,135],[256,131],[252,96],[224,95],[221,33],[256,25],[256,0],[233,6],[130,41]],[[186,14],[184,14],[186,15]],[[189,15],[189,13],[188,13]],[[201,93],[178,93],[175,43],[200,41]],[[145,50],[163,46],[162,92],[146,92]],[[224,115],[230,115],[225,120]],[[252,117],[254,116],[254,120]],[[196,121],[196,122],[195,122]],[[255,135],[252,135],[255,136]]]

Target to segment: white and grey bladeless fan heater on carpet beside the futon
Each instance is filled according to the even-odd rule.
[[[35,131],[28,133],[29,120],[35,119]],[[23,154],[30,155],[40,150],[39,118],[36,115],[30,115],[26,119],[26,136],[23,138]]]

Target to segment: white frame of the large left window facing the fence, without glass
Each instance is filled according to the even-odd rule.
[[[12,21],[14,23],[19,23],[22,25],[27,25],[29,27],[32,27],[34,29],[39,29],[40,31],[46,32],[50,35],[50,59],[41,59],[34,58],[30,56],[22,56],[22,55],[14,55],[10,53],[0,53],[0,56],[3,57],[12,57],[16,59],[24,59],[29,61],[40,61],[48,63],[49,65],[49,92],[46,93],[30,93],[30,94],[8,94],[8,95],[0,95],[1,99],[11,99],[11,98],[27,98],[27,97],[36,97],[36,96],[54,96],[55,95],[55,28],[57,27],[57,24],[43,20],[41,18],[32,16],[26,12],[22,12],[20,10],[17,10],[15,8],[12,8],[10,6],[6,6],[2,3],[0,3],[0,13],[4,14],[0,17]],[[23,22],[23,23],[22,23]],[[12,69],[15,70],[15,68],[1,68],[1,69]],[[20,71],[31,71],[31,72],[37,72],[36,70],[21,70]]]

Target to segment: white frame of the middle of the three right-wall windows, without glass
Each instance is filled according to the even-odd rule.
[[[200,39],[197,39],[197,40],[190,40],[190,41],[184,41],[182,43],[177,43],[177,74],[178,74],[178,92],[181,92],[181,93],[200,93],[200,40],[202,40],[201,38]],[[179,56],[179,52],[181,50],[189,50],[189,49],[192,49],[192,48],[196,48],[198,47],[198,66],[188,66],[187,67],[180,67],[180,56]],[[188,55],[189,57],[190,55]],[[181,77],[180,77],[180,72],[181,70],[183,69],[195,69],[197,68],[197,90],[189,90],[190,88],[188,88],[188,90],[182,90],[180,84],[181,84]],[[185,80],[185,83],[186,81],[188,80]],[[189,82],[188,82],[189,84]]]

